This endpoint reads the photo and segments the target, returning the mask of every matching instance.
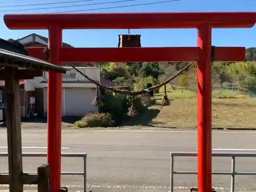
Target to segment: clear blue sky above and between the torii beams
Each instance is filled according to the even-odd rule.
[[[55,0],[54,2],[68,2],[71,0]],[[75,1],[75,0],[73,0]],[[109,5],[82,6],[84,4],[113,2],[113,0],[93,0],[90,2],[67,3],[61,5],[40,5],[7,7],[12,5],[29,5],[40,3],[51,3],[50,0],[0,0],[0,15],[7,13],[49,13],[72,10],[98,9],[114,6],[125,6],[143,4],[150,2],[160,2],[161,0],[135,0],[133,2],[116,3]],[[39,9],[33,11],[6,12],[6,10],[18,10],[29,8],[46,8],[58,6],[81,5],[71,8]],[[6,7],[3,7],[6,6]],[[91,13],[103,12],[187,12],[187,11],[256,11],[255,0],[180,0],[164,4],[146,5],[138,7],[115,8],[106,10],[80,11]],[[37,33],[48,37],[46,30],[9,30],[6,28],[3,17],[0,17],[1,38],[20,38],[31,33]],[[74,47],[117,47],[118,35],[126,34],[127,30],[65,30],[63,31],[63,42],[67,42]],[[142,47],[178,47],[196,46],[196,29],[143,29],[133,30],[131,34],[141,35]],[[256,27],[250,29],[213,29],[212,45],[215,46],[244,46],[256,47]]]

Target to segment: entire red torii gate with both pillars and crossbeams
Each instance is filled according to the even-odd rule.
[[[251,28],[256,12],[8,14],[9,29],[48,29],[50,62],[197,61],[198,78],[198,188],[211,191],[211,28]],[[63,29],[197,28],[197,47],[62,48]],[[44,59],[42,48],[30,56]],[[129,54],[127,54],[129,53]],[[216,47],[215,60],[243,61],[245,48]],[[61,74],[48,77],[48,163],[51,189],[60,189]]]

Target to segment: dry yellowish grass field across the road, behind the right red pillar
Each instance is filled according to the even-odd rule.
[[[126,125],[157,127],[197,127],[197,93],[182,87],[173,91],[169,84],[166,94],[169,106],[161,106],[164,88],[155,94],[157,104],[132,118]],[[212,127],[256,128],[256,99],[230,90],[212,89]]]

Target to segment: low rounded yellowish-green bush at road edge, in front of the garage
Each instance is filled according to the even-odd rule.
[[[113,126],[115,121],[109,113],[89,113],[80,121],[76,121],[76,127],[109,127]]]

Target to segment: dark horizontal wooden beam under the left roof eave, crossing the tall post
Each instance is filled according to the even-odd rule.
[[[0,70],[0,80],[5,80],[8,74],[5,70]],[[33,69],[19,69],[15,73],[15,79],[33,79],[34,77],[41,77],[42,71]]]

